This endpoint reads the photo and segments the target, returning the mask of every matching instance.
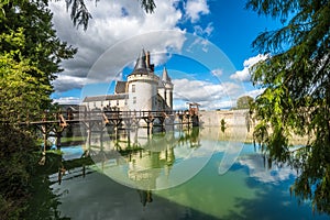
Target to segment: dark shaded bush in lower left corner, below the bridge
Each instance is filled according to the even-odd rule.
[[[28,132],[0,123],[0,219],[21,219],[28,208],[34,141]]]

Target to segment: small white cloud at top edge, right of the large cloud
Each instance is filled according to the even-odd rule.
[[[188,0],[185,10],[191,23],[198,22],[201,14],[210,13],[207,0]]]

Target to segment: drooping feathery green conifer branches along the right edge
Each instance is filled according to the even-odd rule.
[[[248,0],[246,8],[284,24],[252,44],[270,55],[252,68],[254,85],[265,88],[252,108],[254,138],[270,161],[297,169],[292,191],[330,213],[330,1]],[[290,147],[293,134],[308,141]]]

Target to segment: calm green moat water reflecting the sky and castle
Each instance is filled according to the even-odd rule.
[[[35,219],[329,219],[314,215],[308,201],[298,205],[289,195],[295,172],[265,168],[252,144],[242,145],[230,169],[220,175],[219,166],[230,145],[219,141],[221,133],[215,133],[174,132],[166,141],[156,138],[140,144],[144,150],[130,151],[117,160],[105,154],[102,163],[96,160],[84,173],[82,167],[66,170],[61,184],[58,173],[51,174],[51,190],[35,199],[51,198],[52,206]],[[69,161],[79,157],[86,146],[62,151]],[[144,185],[138,186],[150,189],[124,186],[142,182],[139,175]],[[151,184],[145,185],[145,179]]]

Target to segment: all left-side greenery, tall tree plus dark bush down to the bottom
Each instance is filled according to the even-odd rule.
[[[0,219],[22,219],[36,144],[18,122],[50,108],[54,74],[76,50],[56,36],[46,1],[1,1],[0,9]]]

